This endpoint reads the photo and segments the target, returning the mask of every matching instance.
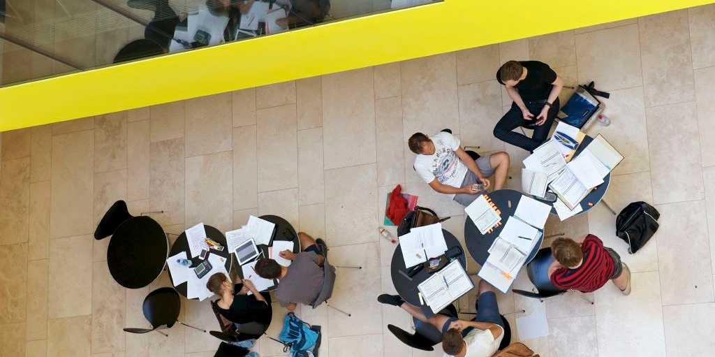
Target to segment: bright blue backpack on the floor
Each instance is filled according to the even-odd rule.
[[[288,313],[283,321],[283,330],[278,339],[290,348],[292,357],[317,356],[320,347],[320,326],[310,326],[297,318],[294,313]]]

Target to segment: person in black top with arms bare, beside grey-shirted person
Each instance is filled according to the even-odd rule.
[[[219,312],[232,323],[257,322],[268,324],[271,309],[267,300],[256,290],[251,280],[242,279],[242,284],[232,285],[224,273],[215,273],[206,283],[210,292],[219,295]],[[247,295],[248,292],[252,295]]]

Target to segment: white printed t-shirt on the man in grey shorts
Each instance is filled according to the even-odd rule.
[[[435,153],[415,157],[415,170],[418,175],[427,183],[436,178],[442,185],[461,188],[468,169],[457,156],[459,139],[448,132],[440,132],[430,137],[430,140],[435,145]]]

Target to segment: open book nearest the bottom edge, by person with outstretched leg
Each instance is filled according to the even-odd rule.
[[[455,259],[442,270],[433,273],[417,288],[433,313],[438,313],[454,300],[472,290],[474,283],[460,265],[459,260]]]

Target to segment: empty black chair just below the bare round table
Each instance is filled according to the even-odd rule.
[[[152,291],[144,298],[142,304],[144,318],[152,324],[152,328],[124,328],[124,331],[130,333],[147,333],[157,330],[161,326],[172,328],[174,323],[181,323],[184,326],[194,328],[195,330],[206,333],[206,330],[187,325],[179,320],[179,312],[181,311],[181,300],[179,293],[174,288],[158,288]],[[157,331],[164,336],[168,335],[161,331]]]

